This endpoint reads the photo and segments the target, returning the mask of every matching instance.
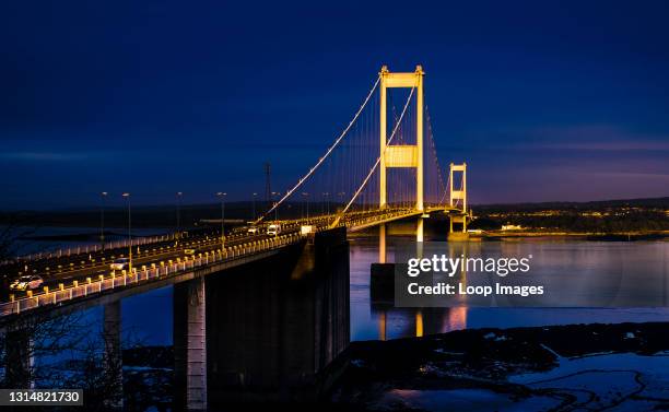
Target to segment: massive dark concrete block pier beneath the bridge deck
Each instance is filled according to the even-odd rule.
[[[313,401],[350,341],[345,233],[209,276],[207,302],[210,408]]]

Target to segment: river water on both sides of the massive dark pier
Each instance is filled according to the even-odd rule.
[[[479,254],[543,254],[536,270],[554,275],[601,276],[623,271],[626,282],[653,279],[642,286],[655,291],[667,287],[669,242],[587,242],[555,238],[515,239],[508,243],[478,243]],[[388,260],[392,261],[392,242]],[[371,264],[378,261],[375,236],[350,240],[351,340],[376,340],[442,333],[465,328],[510,328],[567,323],[612,323],[669,321],[667,307],[625,308],[395,308],[391,302],[371,299]],[[652,274],[649,276],[648,274]],[[545,273],[544,273],[545,274]],[[659,286],[658,286],[659,285]],[[665,289],[667,291],[667,289]],[[668,291],[669,292],[669,291]],[[669,295],[667,293],[666,295]],[[124,329],[134,331],[148,344],[172,343],[172,287],[124,301]]]

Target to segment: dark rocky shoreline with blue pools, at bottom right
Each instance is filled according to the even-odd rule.
[[[590,357],[605,361],[603,367],[594,368]],[[667,361],[669,323],[664,322],[477,329],[353,342],[322,375],[322,400],[386,411],[606,409],[624,402],[668,410],[669,369],[646,370],[647,364]],[[564,376],[555,374],[561,368]],[[600,388],[602,379],[626,389]],[[648,393],[646,380],[656,384]]]

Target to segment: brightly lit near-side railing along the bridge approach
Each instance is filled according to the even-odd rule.
[[[66,286],[60,283],[57,289],[45,287],[42,292],[21,297],[8,303],[0,304],[0,316],[21,314],[47,305],[57,305],[77,298],[84,298],[89,295],[101,294],[119,287],[136,286],[146,282],[166,279],[172,275],[183,273],[195,268],[204,267],[233,260],[254,254],[269,251],[286,245],[294,244],[303,239],[305,235],[293,233],[263,240],[249,242],[242,245],[225,247],[224,249],[210,250],[198,256],[177,258],[161,261],[159,264],[152,263],[150,267],[132,268],[132,272],[121,273],[111,272],[107,275],[101,274],[98,278],[86,278],[85,281],[73,281]]]

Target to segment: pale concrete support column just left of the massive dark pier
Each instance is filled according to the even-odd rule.
[[[204,278],[174,285],[175,409],[207,410]]]

